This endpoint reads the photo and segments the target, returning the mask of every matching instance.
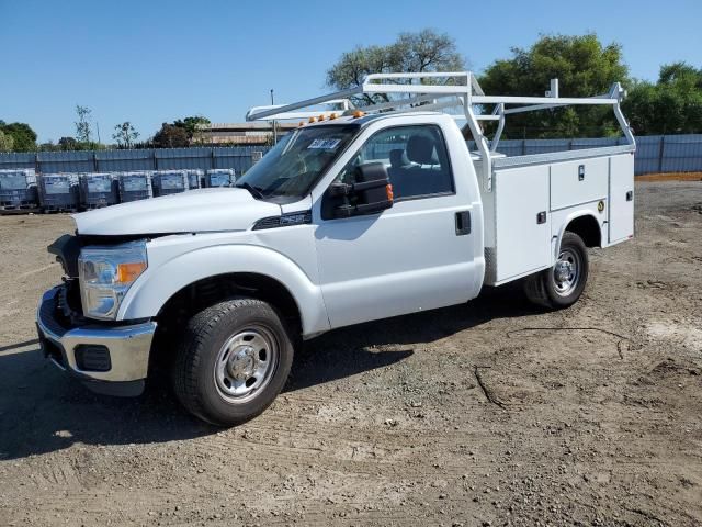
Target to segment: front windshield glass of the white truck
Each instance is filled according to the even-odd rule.
[[[237,187],[268,197],[299,197],[327,170],[359,131],[358,124],[297,128],[251,167]]]

